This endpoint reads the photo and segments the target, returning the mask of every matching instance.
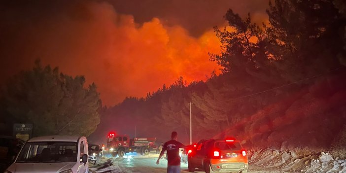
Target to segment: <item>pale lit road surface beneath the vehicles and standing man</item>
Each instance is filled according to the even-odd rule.
[[[103,158],[96,165],[90,165],[91,173],[167,173],[167,160],[161,159],[156,165],[158,154],[148,156],[138,156],[136,153],[129,153],[123,158]],[[263,170],[258,167],[249,166],[248,173],[287,173],[275,170]],[[181,173],[189,173],[187,164],[181,163]],[[196,170],[195,173],[205,173],[203,170]]]

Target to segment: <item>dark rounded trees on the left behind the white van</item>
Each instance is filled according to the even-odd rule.
[[[12,135],[13,123],[33,124],[33,136],[89,136],[100,123],[100,94],[84,76],[42,67],[12,76],[0,89],[0,133]]]

